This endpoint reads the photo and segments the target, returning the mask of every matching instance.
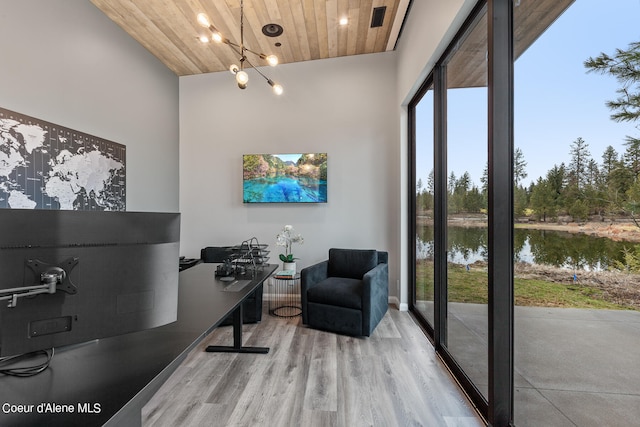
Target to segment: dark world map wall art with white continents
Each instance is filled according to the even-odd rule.
[[[0,107],[0,208],[124,211],[126,147]]]

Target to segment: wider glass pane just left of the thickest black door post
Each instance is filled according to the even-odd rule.
[[[444,61],[446,349],[487,398],[487,15]]]

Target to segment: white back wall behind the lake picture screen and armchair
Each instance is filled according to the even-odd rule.
[[[222,47],[224,48],[224,47]],[[331,247],[390,252],[390,292],[398,279],[398,117],[395,52],[263,71],[285,87],[272,94],[249,70],[242,91],[228,72],[180,78],[181,253],[255,236],[270,245],[285,224],[305,242],[304,267]],[[243,204],[242,155],[326,152],[326,204]]]

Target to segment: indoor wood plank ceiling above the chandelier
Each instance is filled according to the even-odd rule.
[[[230,46],[203,44],[196,16],[240,44],[240,0],[91,0],[178,76],[228,70],[239,55]],[[407,9],[402,0],[244,0],[244,44],[275,54],[280,63],[393,50]],[[382,26],[371,28],[374,8],[386,6]],[[347,25],[340,25],[343,17]],[[283,33],[265,36],[263,26]],[[395,25],[394,25],[395,24]],[[278,44],[278,45],[277,45]],[[248,55],[255,66],[265,62]]]

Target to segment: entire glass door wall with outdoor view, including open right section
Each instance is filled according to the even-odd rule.
[[[494,426],[640,419],[640,4],[598,6],[479,1],[409,104],[410,309]]]

